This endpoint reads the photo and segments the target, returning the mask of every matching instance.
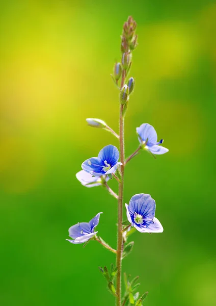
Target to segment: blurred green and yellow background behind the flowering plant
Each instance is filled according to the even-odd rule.
[[[133,234],[123,270],[140,275],[145,305],[215,305],[215,1],[8,0],[0,15],[1,305],[115,303],[98,271],[114,254],[65,239],[71,225],[102,211],[97,230],[116,245],[116,199],[83,187],[75,173],[118,145],[85,119],[118,130],[110,73],[128,15],[139,46],[126,155],[144,122],[170,152],[156,160],[143,152],[126,167],[124,201],[150,193],[164,233]]]

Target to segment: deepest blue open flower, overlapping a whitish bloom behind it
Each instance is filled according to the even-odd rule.
[[[117,147],[109,144],[100,150],[98,157],[92,157],[82,164],[83,170],[94,176],[114,173],[118,165],[119,151]]]

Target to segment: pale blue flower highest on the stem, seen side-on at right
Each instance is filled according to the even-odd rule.
[[[137,127],[138,139],[144,149],[149,150],[153,154],[165,154],[169,150],[159,144],[163,143],[163,139],[157,142],[157,133],[154,127],[148,123],[143,123]]]

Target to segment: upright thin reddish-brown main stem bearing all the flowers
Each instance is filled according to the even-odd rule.
[[[123,78],[122,78],[123,79]],[[123,82],[124,83],[124,82]],[[116,266],[118,267],[116,281],[116,306],[121,306],[121,258],[122,258],[122,204],[123,204],[123,186],[124,186],[124,118],[122,117],[123,106],[120,106],[119,120],[119,141],[120,141],[120,161],[122,180],[119,182],[119,199],[118,199],[118,244]]]

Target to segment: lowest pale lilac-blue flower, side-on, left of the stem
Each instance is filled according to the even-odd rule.
[[[97,232],[95,232],[95,227],[99,223],[100,214],[98,213],[92,220],[82,223],[77,223],[69,228],[69,236],[73,240],[66,239],[73,244],[84,243],[91,239]]]

